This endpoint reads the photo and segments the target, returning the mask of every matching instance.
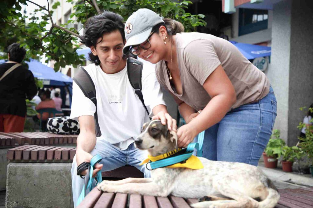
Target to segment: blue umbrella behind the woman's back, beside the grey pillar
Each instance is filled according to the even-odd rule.
[[[236,46],[248,60],[271,55],[271,47],[229,41]]]

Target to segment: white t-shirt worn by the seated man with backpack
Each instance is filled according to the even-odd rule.
[[[149,121],[146,109],[135,94],[127,76],[127,66],[118,73],[106,74],[100,66],[90,64],[84,67],[95,84],[98,122],[101,137],[120,149],[126,149],[134,142],[142,125]],[[144,64],[141,76],[142,95],[150,112],[160,104],[166,105],[160,84],[156,80],[154,66]],[[71,119],[95,114],[95,104],[85,97],[79,86],[73,82]]]

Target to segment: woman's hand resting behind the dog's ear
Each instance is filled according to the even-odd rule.
[[[189,143],[197,136],[195,128],[192,128],[190,124],[185,124],[177,129],[177,145],[180,148],[187,147]]]

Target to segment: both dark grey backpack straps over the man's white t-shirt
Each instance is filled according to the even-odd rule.
[[[143,96],[141,93],[141,74],[142,74],[143,63],[135,58],[129,57],[127,59],[127,74],[128,79],[131,83],[131,86],[134,88],[135,93],[138,95],[138,98],[141,100],[143,107],[146,109],[147,114],[149,115],[149,111],[146,108],[145,101],[143,100]],[[84,69],[84,67],[80,67],[79,70],[75,73],[73,78],[75,83],[80,87],[81,91],[85,94],[87,98],[89,98],[96,106],[95,112],[95,131],[96,136],[101,136],[101,131],[98,123],[98,115],[97,115],[97,98],[96,98],[96,89],[95,84],[92,81],[88,72]]]

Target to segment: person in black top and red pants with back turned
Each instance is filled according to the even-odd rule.
[[[0,132],[23,132],[25,99],[37,94],[33,73],[20,64],[25,54],[23,47],[13,43],[8,46],[9,60],[0,64]]]

